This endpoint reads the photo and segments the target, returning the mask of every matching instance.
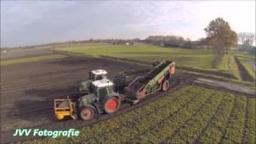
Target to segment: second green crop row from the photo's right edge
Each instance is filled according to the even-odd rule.
[[[246,98],[238,97],[226,128],[223,143],[241,143],[246,114]]]

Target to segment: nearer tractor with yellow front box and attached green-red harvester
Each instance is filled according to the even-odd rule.
[[[120,85],[124,86],[123,93],[115,90],[114,87],[118,84],[107,78],[90,82],[90,93],[80,97],[78,102],[71,102],[70,99],[54,100],[55,115],[58,119],[79,117],[82,120],[90,120],[96,114],[114,113],[123,101],[135,104],[158,90],[168,90],[170,78],[175,71],[175,62],[160,62],[146,74],[142,71],[142,76],[134,78],[129,84]]]

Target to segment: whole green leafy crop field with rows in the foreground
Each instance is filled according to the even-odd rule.
[[[184,86],[129,113],[86,126],[79,137],[26,143],[255,143],[255,98]]]

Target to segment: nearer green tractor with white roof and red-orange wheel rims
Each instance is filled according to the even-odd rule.
[[[107,78],[91,82],[90,94],[78,99],[77,114],[82,120],[90,120],[95,114],[111,114],[121,105],[119,94],[114,92],[114,83]]]

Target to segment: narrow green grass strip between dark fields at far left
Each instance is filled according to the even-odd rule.
[[[66,55],[50,54],[50,55],[42,55],[42,56],[30,57],[30,58],[15,58],[10,60],[3,60],[1,61],[1,66],[18,64],[18,63],[26,63],[26,62],[38,62],[43,60],[55,59],[55,58],[66,58]]]

